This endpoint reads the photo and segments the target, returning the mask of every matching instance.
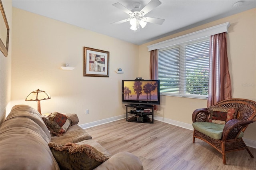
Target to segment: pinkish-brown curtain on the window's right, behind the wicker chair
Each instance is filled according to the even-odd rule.
[[[207,107],[231,99],[226,32],[210,36],[210,72]]]

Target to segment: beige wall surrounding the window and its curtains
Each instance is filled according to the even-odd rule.
[[[228,29],[228,59],[232,79],[232,97],[256,101],[256,8],[229,16],[190,30],[140,45],[139,75],[149,78],[148,65],[150,52],[147,46],[178,36],[196,32],[205,28],[230,22]],[[146,64],[145,64],[146,63]],[[204,99],[161,96],[160,111],[157,116],[192,123],[194,109],[206,107]],[[248,126],[245,138],[256,141],[256,123]]]

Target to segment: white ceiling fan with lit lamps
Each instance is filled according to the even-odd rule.
[[[131,24],[130,29],[134,31],[140,30],[140,26],[141,28],[144,28],[147,22],[162,25],[164,22],[164,19],[145,16],[148,12],[150,12],[160,4],[162,4],[162,2],[160,2],[159,0],[151,0],[146,6],[144,6],[144,8],[142,8],[142,10],[140,10],[140,2],[135,2],[133,4],[134,9],[128,10],[125,6],[123,6],[119,2],[115,3],[113,4],[113,6],[129,14],[130,18],[127,18],[125,20],[121,20],[118,22],[114,22],[112,24],[121,24],[121,23],[130,21],[130,24]]]

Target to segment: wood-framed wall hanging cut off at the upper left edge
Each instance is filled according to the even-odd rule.
[[[0,10],[2,15],[0,16],[0,50],[7,57],[9,47],[9,32],[10,28],[4,12],[4,6],[2,0],[0,0]],[[6,44],[4,43],[6,42]]]

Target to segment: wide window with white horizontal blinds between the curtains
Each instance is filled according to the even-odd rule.
[[[209,38],[159,49],[160,94],[208,97]]]

